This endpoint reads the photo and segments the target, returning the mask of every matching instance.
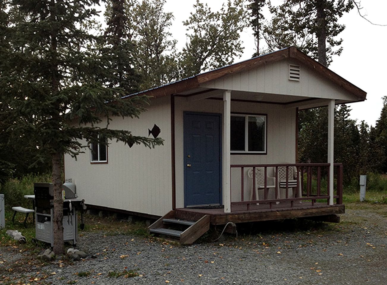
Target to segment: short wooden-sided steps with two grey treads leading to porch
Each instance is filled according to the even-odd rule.
[[[153,234],[177,237],[181,244],[192,244],[210,229],[210,215],[197,221],[176,219],[175,211],[166,213],[148,227]]]

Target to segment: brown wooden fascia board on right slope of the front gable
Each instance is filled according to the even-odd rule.
[[[341,86],[345,90],[351,92],[352,94],[356,95],[360,99],[364,100],[366,98],[367,93],[363,90],[361,90],[359,87],[353,85],[351,82],[345,80],[341,76],[334,73],[332,70],[329,70],[327,67],[322,65],[321,63],[312,60],[309,56],[305,55],[305,53],[302,53],[294,46],[289,48],[289,57],[295,58],[296,60],[301,61],[304,65],[306,65],[309,68],[312,68],[317,73],[322,75],[323,77],[327,78],[328,80],[334,82],[335,84]]]

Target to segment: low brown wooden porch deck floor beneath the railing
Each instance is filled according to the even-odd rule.
[[[293,203],[283,201],[273,204],[270,208],[269,204],[252,204],[249,210],[246,210],[245,205],[233,205],[231,213],[224,213],[223,208],[177,208],[176,218],[183,220],[199,220],[204,215],[210,215],[211,225],[224,225],[228,222],[235,224],[245,222],[260,222],[267,220],[283,220],[287,218],[302,218],[328,216],[344,213],[344,205],[327,205],[325,203],[314,203],[310,201],[302,201],[301,203]]]

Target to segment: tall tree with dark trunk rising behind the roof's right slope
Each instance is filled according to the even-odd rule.
[[[333,55],[340,55],[345,29],[339,19],[353,9],[353,0],[288,0],[270,6],[273,18],[264,28],[269,49],[295,45],[328,66]]]

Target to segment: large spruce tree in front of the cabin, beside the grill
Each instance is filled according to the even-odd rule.
[[[82,140],[98,138],[100,143],[118,140],[130,146],[162,143],[108,128],[112,116],[138,117],[148,99],[121,99],[128,94],[121,87],[130,87],[120,80],[118,87],[109,86],[104,80],[104,56],[88,28],[97,15],[92,7],[98,4],[99,0],[13,0],[2,10],[10,16],[2,28],[0,116],[15,143],[39,148],[51,158],[56,254],[62,254],[64,246],[63,155],[76,156],[87,146]]]

